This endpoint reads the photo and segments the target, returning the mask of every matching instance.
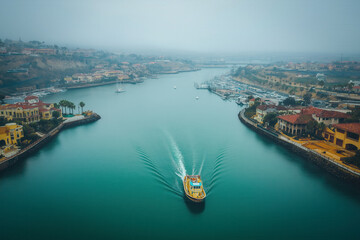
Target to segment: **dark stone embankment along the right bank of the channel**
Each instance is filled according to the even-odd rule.
[[[244,112],[245,109],[241,110],[238,114],[238,118],[245,126],[250,128],[254,132],[273,140],[277,144],[282,145],[286,149],[303,157],[304,160],[310,161],[315,165],[321,167],[322,169],[326,170],[333,176],[346,180],[352,184],[360,185],[359,173],[352,171],[351,169],[346,168],[345,166],[333,161],[330,158],[322,156],[311,149],[305,148],[300,144],[291,142],[290,140],[286,139],[280,134],[277,134],[276,132],[269,131],[262,126],[259,126],[258,124],[252,122],[250,119],[245,117]]]

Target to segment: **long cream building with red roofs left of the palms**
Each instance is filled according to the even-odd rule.
[[[55,108],[53,103],[44,103],[37,96],[28,96],[25,102],[0,106],[0,117],[7,121],[16,119],[27,124],[38,122],[40,119],[50,120],[54,111],[59,112],[62,117],[61,110]]]

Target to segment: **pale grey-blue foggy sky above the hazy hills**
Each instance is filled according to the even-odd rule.
[[[359,0],[0,0],[0,38],[113,50],[360,53]]]

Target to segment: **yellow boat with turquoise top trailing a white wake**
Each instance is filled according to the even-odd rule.
[[[200,175],[186,175],[184,177],[184,192],[188,199],[193,202],[203,202],[206,193]]]

